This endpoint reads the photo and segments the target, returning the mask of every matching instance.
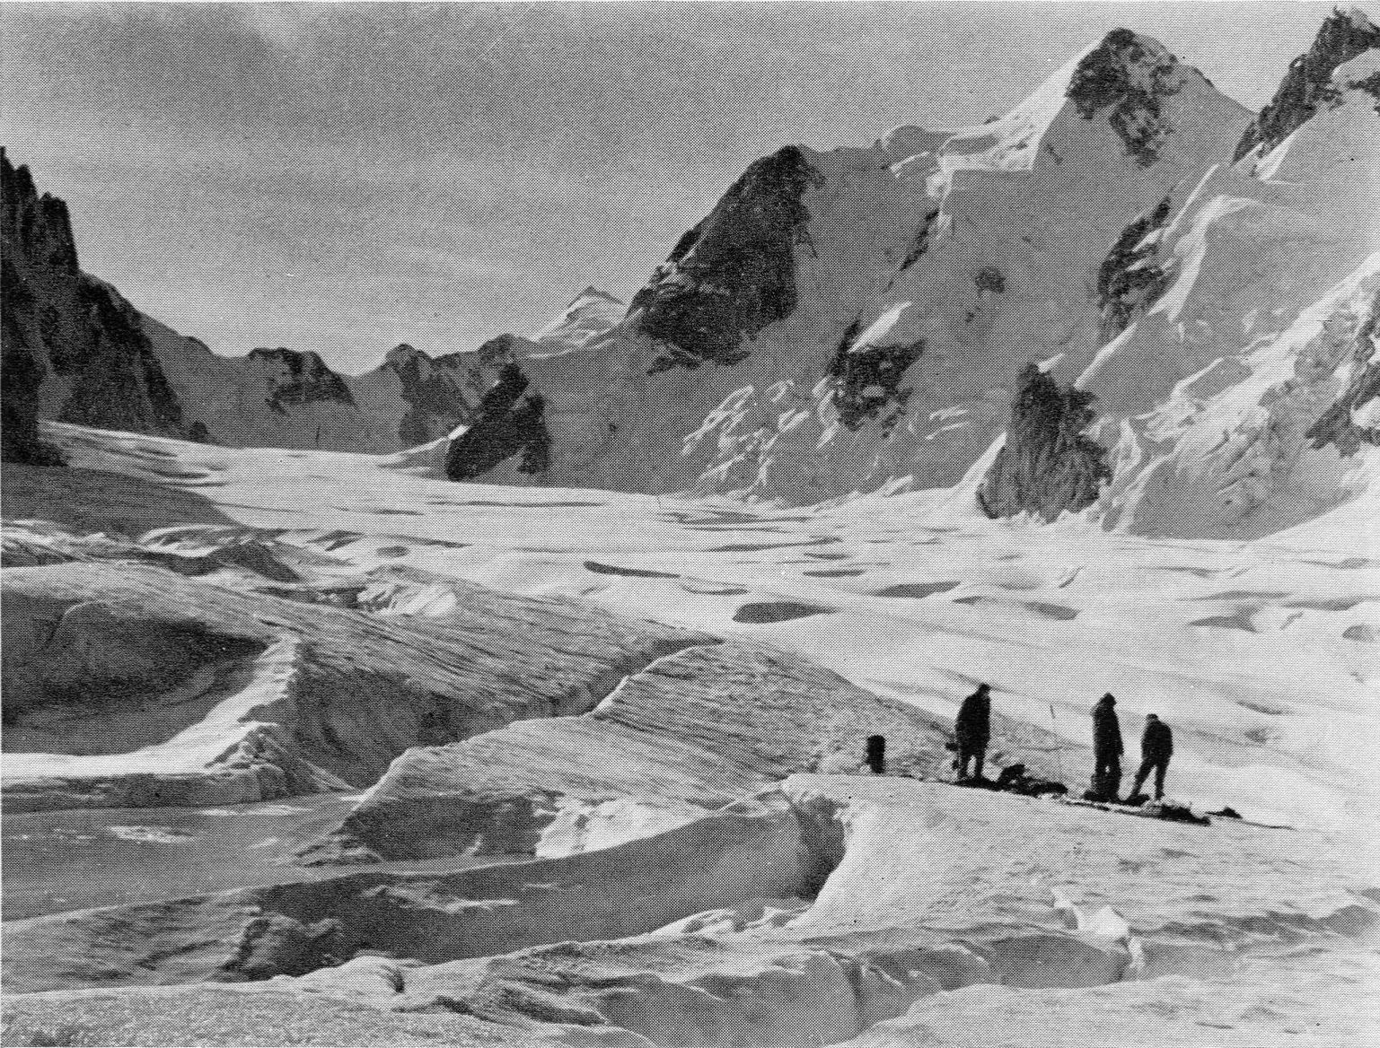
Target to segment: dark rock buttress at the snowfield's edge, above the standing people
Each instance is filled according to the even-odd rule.
[[[1025,367],[1006,445],[977,491],[987,516],[1034,513],[1049,521],[1097,501],[1111,469],[1107,451],[1083,436],[1094,418],[1092,401],[1090,393],[1064,389],[1036,365]]]

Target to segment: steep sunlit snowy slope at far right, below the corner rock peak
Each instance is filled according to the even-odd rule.
[[[1256,145],[1123,258],[1152,294],[1078,379],[1115,445],[1110,527],[1268,534],[1354,496],[1380,465],[1380,225],[1365,218],[1380,200],[1380,32],[1334,14],[1305,58],[1337,39],[1369,47],[1339,52],[1352,57],[1328,70],[1314,112],[1286,132],[1263,116],[1242,139]]]

